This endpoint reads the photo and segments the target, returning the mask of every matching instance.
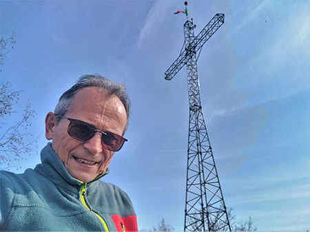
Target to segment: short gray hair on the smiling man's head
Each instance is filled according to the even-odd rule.
[[[59,102],[55,107],[54,114],[57,114],[58,116],[65,116],[76,93],[85,87],[101,87],[107,90],[107,96],[116,95],[119,100],[121,100],[127,114],[127,123],[123,131],[124,135],[128,128],[130,116],[130,98],[127,94],[126,87],[123,83],[110,81],[108,78],[100,76],[99,74],[81,76],[79,80],[76,81],[76,84],[64,92],[63,95],[59,98]],[[59,123],[60,120],[61,117],[57,117],[57,123]]]

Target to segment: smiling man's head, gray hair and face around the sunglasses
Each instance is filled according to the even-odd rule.
[[[52,148],[69,173],[90,182],[106,171],[115,152],[103,148],[101,135],[108,131],[121,138],[128,126],[129,110],[130,100],[123,85],[98,75],[82,76],[61,96],[54,114],[46,116],[45,136],[52,139]],[[85,141],[72,138],[68,134],[70,120],[66,118],[92,125],[96,133]]]

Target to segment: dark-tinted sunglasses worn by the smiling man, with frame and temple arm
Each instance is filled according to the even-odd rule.
[[[101,131],[101,129],[97,129],[94,125],[85,123],[81,120],[67,118],[58,114],[55,114],[55,116],[70,120],[67,131],[68,134],[76,140],[87,141],[90,140],[96,132],[101,133],[101,145],[108,151],[119,151],[123,147],[125,141],[128,141],[123,136],[109,131]]]

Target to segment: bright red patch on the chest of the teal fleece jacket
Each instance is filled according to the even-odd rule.
[[[138,224],[136,222],[136,215],[130,215],[125,218],[121,218],[120,215],[112,215],[111,216],[116,230],[118,232],[130,232],[130,231],[138,231]]]

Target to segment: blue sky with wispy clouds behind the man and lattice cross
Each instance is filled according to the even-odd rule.
[[[83,74],[127,84],[128,142],[104,178],[127,191],[140,229],[161,217],[183,231],[188,136],[185,67],[164,72],[183,45],[183,1],[0,1],[1,37],[15,33],[0,81],[23,90],[44,119]],[[203,112],[224,198],[259,231],[310,229],[310,1],[189,1],[198,34],[217,13],[223,26],[198,59]],[[29,139],[32,139],[29,138]],[[38,154],[18,162],[35,167]]]

